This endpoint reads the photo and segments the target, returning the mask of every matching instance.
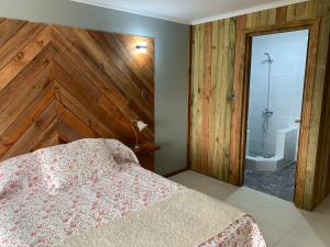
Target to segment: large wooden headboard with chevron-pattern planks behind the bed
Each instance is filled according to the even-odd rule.
[[[153,38],[0,19],[1,160],[85,137],[132,144],[132,119],[152,142]]]

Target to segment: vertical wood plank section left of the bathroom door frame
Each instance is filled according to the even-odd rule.
[[[237,19],[194,29],[191,169],[227,180]],[[194,133],[194,134],[191,134]],[[223,165],[224,164],[224,165]]]

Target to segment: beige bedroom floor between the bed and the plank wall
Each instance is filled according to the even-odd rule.
[[[250,188],[237,188],[186,171],[170,178],[253,215],[270,247],[330,246],[330,197],[315,212],[297,210],[293,203]]]

